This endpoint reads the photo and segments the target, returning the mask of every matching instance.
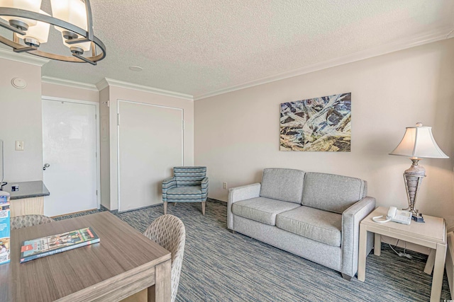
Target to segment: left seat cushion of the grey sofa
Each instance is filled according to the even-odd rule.
[[[257,197],[233,203],[232,213],[247,219],[275,226],[277,214],[297,207],[301,207],[301,204]]]

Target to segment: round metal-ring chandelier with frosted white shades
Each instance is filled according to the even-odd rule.
[[[106,57],[106,46],[93,33],[92,8],[89,0],[50,0],[52,16],[41,10],[41,0],[0,0],[0,26],[11,31],[0,42],[14,52],[65,62],[89,63]],[[60,31],[70,55],[39,50],[48,42],[50,25]]]

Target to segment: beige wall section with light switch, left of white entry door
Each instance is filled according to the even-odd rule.
[[[41,67],[0,59],[0,139],[4,140],[4,179],[7,182],[43,180]],[[11,79],[27,82],[24,89]],[[24,150],[15,151],[15,141]]]

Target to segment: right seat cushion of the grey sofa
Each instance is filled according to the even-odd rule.
[[[278,214],[276,226],[327,245],[341,246],[341,214],[299,207]]]

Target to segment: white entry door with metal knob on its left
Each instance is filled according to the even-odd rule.
[[[98,208],[96,105],[43,99],[44,214]]]

